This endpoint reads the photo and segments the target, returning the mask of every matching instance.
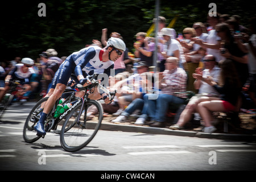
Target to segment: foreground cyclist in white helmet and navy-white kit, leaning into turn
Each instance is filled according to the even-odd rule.
[[[57,99],[63,94],[72,73],[75,73],[77,82],[79,81],[83,86],[89,84],[85,77],[93,75],[94,71],[98,71],[99,69],[104,70],[104,73],[110,76],[110,69],[114,68],[113,61],[117,60],[125,49],[126,46],[123,40],[110,38],[104,49],[98,46],[89,46],[78,52],[73,52],[68,56],[60,65],[60,68],[52,80],[52,87],[48,93],[49,99],[44,106],[39,122],[34,127],[38,135],[46,135],[46,131],[44,131],[44,121]],[[98,95],[98,99],[103,98],[106,104],[111,102],[106,93],[99,95],[99,93],[95,92],[91,95],[94,94]],[[94,95],[93,97],[95,98],[96,96]]]

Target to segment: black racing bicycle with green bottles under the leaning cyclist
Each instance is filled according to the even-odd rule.
[[[61,146],[66,151],[75,152],[85,147],[97,134],[101,126],[103,119],[103,109],[100,102],[96,100],[90,100],[89,94],[94,92],[94,89],[101,89],[108,94],[109,100],[112,100],[115,96],[115,92],[110,92],[104,86],[95,79],[96,76],[88,76],[91,84],[88,86],[77,85],[75,89],[65,89],[64,93],[71,93],[63,103],[71,103],[72,106],[65,110],[64,113],[55,117],[55,110],[60,103],[59,98],[55,102],[55,106],[49,112],[44,124],[45,131],[49,133],[53,132],[60,134]],[[76,92],[85,90],[84,96],[76,97]],[[27,143],[35,142],[44,136],[37,135],[34,130],[34,126],[40,119],[40,115],[43,112],[43,106],[49,97],[44,97],[32,108],[23,128],[23,139]],[[97,113],[92,119],[88,117],[90,111],[94,110]]]

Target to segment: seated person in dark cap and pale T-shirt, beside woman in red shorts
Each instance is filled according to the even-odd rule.
[[[212,97],[219,97],[219,93],[212,86],[207,84],[204,80],[208,77],[212,77],[214,81],[218,82],[220,77],[220,68],[216,66],[216,60],[213,55],[206,55],[204,57],[204,71],[201,68],[196,69],[196,73],[193,77],[196,78],[194,82],[195,88],[199,89],[199,93],[193,96],[185,109],[180,114],[180,118],[175,125],[170,126],[171,130],[181,130],[187,122],[192,118],[193,113],[198,113],[197,105],[201,101],[208,101]]]

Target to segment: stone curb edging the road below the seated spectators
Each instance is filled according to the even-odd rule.
[[[121,125],[112,123],[101,123],[100,130],[125,131],[134,133],[175,135],[181,137],[213,138],[213,139],[232,139],[232,140],[250,140],[255,141],[256,135],[246,134],[222,134],[222,133],[201,133],[196,131],[169,130],[166,128],[146,127],[136,125]]]

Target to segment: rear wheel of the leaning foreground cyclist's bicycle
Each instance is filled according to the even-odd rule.
[[[39,137],[36,135],[36,131],[34,130],[34,126],[39,121],[39,117],[36,117],[43,110],[40,109],[40,106],[43,102],[46,102],[49,97],[44,97],[40,101],[36,103],[36,105],[31,109],[30,114],[28,114],[26,122],[23,127],[23,139],[27,143],[33,143],[38,140]],[[40,112],[39,112],[40,111]]]

